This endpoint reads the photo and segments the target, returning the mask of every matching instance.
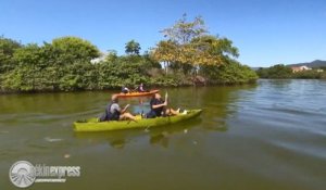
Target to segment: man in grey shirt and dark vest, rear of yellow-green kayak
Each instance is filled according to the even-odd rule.
[[[133,114],[126,112],[128,106],[129,104],[127,104],[124,109],[121,109],[118,105],[118,97],[113,94],[111,103],[106,106],[105,113],[101,116],[100,122],[123,119],[136,121],[136,117]]]

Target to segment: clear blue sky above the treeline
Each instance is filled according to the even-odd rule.
[[[326,60],[325,0],[0,0],[0,35],[23,43],[77,36],[123,54],[131,39],[154,47],[184,13],[231,39],[250,66]]]

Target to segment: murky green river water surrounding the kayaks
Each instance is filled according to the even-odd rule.
[[[0,96],[0,189],[17,189],[9,179],[16,161],[80,166],[79,177],[36,190],[326,189],[325,80],[161,91],[173,107],[203,113],[166,127],[77,134],[73,122],[99,116],[113,91]],[[120,103],[148,110],[146,98]]]

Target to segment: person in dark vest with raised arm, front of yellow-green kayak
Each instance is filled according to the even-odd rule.
[[[151,111],[146,115],[147,118],[154,118],[165,115],[178,115],[179,112],[173,109],[167,109],[167,94],[165,101],[160,93],[155,93],[150,101]]]

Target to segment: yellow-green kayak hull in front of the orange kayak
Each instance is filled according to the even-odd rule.
[[[149,128],[158,127],[170,124],[175,124],[181,121],[186,121],[200,115],[202,110],[189,110],[187,114],[179,114],[176,116],[156,117],[156,118],[141,118],[137,122],[133,121],[111,121],[111,122],[98,122],[97,118],[90,118],[87,121],[78,121],[74,123],[74,130],[78,132],[87,131],[110,131],[122,130],[133,128]]]

